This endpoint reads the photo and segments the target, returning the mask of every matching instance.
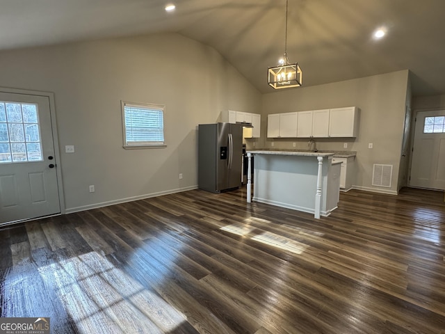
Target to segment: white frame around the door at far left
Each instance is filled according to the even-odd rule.
[[[58,202],[60,205],[60,214],[65,214],[65,197],[63,196],[63,178],[62,178],[62,164],[60,160],[60,149],[58,145],[58,133],[57,133],[57,120],[56,120],[56,103],[54,100],[54,93],[43,92],[39,90],[26,90],[19,88],[5,88],[0,87],[0,93],[10,93],[19,95],[35,95],[47,97],[49,101],[49,113],[51,115],[51,132],[53,135],[54,155],[56,158],[56,173],[57,173],[57,189],[58,189]],[[50,215],[53,216],[53,215]],[[56,214],[58,216],[58,214]],[[26,220],[24,220],[26,221]],[[19,223],[15,221],[14,223]],[[6,223],[8,224],[8,223]]]

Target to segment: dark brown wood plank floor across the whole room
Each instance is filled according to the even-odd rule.
[[[445,333],[444,194],[312,214],[195,190],[0,230],[0,317],[51,333]]]

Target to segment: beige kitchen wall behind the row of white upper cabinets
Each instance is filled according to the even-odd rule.
[[[309,74],[308,74],[309,75]],[[405,122],[408,70],[372,77],[292,88],[263,95],[261,106],[261,145],[265,148],[307,149],[307,139],[266,138],[267,115],[315,109],[358,106],[360,111],[357,138],[316,138],[318,150],[357,151],[357,189],[397,193],[398,170]],[[343,148],[348,143],[348,148]],[[368,144],[373,143],[373,149]],[[372,186],[373,164],[393,165],[391,188]]]

